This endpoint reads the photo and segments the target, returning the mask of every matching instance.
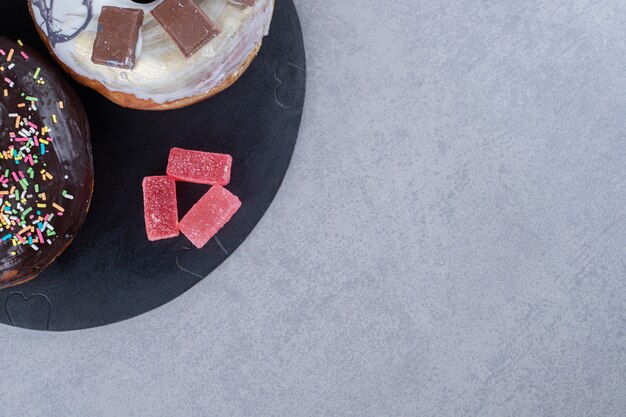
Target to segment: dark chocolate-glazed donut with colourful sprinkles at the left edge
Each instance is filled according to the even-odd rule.
[[[93,190],[89,138],[57,70],[0,36],[0,288],[37,276],[78,233]]]

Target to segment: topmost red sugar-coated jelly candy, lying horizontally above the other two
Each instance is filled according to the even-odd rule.
[[[167,175],[178,181],[226,185],[230,182],[230,155],[172,148]]]

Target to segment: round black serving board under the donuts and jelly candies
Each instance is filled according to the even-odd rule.
[[[0,34],[45,52],[26,1],[0,0]],[[35,280],[0,291],[0,322],[75,330],[159,307],[207,276],[250,234],[285,176],[298,136],[305,54],[292,0],[276,0],[270,34],[248,71],[225,92],[194,106],[142,112],[116,106],[73,83],[92,131],[95,191],[74,243]],[[141,180],[165,173],[169,149],[233,155],[227,188],[240,211],[205,248],[178,237],[145,237]],[[179,184],[180,213],[208,189]]]

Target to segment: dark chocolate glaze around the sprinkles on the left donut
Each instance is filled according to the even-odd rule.
[[[63,215],[57,215],[51,221],[56,236],[49,238],[50,243],[38,245],[39,250],[29,245],[13,246],[10,239],[0,242],[0,288],[3,288],[34,278],[71,243],[89,209],[93,190],[93,161],[87,115],[80,100],[56,68],[36,51],[20,47],[2,36],[0,49],[5,52],[14,49],[12,61],[16,63],[15,67],[9,69],[7,57],[0,55],[0,66],[4,66],[4,71],[0,72],[0,152],[6,151],[11,145],[20,146],[10,138],[10,132],[19,130],[15,129],[15,118],[10,118],[10,113],[28,113],[35,125],[40,128],[48,126],[54,142],[47,147],[45,155],[39,156],[35,171],[39,176],[43,167],[53,175],[52,180],[38,181],[40,192],[46,193],[46,200],[50,204],[56,202],[64,208]],[[24,59],[20,51],[24,51],[28,59]],[[34,78],[37,68],[40,68],[38,79],[43,78],[45,84],[38,83]],[[6,85],[4,77],[14,82],[12,88]],[[5,88],[8,96],[4,96]],[[18,103],[24,102],[22,92],[37,97],[36,110],[17,107]],[[63,102],[63,109],[59,108],[60,101]],[[53,122],[53,115],[56,115],[56,123]],[[14,161],[0,159],[0,167],[1,174],[16,166]],[[13,178],[9,180],[9,188],[13,184],[18,185]],[[64,190],[74,198],[64,198]],[[8,233],[4,226],[0,225],[0,230],[1,236]]]

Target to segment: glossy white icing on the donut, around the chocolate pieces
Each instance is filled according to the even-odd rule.
[[[35,23],[48,37],[55,55],[77,74],[100,82],[112,92],[164,104],[205,94],[220,86],[267,35],[273,0],[245,6],[233,0],[198,0],[221,33],[186,58],[150,11],[132,0],[29,0]],[[103,6],[142,9],[143,26],[132,70],[91,61],[98,17]],[[48,19],[46,20],[46,15]]]

